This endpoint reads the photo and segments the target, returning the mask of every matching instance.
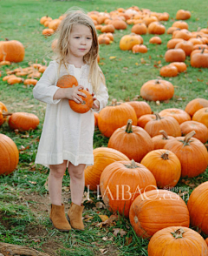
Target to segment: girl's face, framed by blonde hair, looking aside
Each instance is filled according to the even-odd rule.
[[[74,24],[69,36],[68,51],[70,56],[84,57],[90,51],[93,37],[90,28]]]

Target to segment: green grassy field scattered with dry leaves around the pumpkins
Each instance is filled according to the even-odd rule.
[[[29,62],[44,63],[52,57],[51,42],[53,37],[43,37],[43,26],[40,18],[58,18],[68,8],[78,6],[84,10],[107,11],[119,7],[129,8],[137,5],[157,12],[168,12],[170,19],[163,22],[166,29],[175,21],[177,10],[190,10],[191,19],[186,22],[189,30],[207,27],[207,1],[200,3],[196,0],[184,1],[151,1],[133,0],[131,3],[120,0],[92,0],[92,1],[52,1],[52,0],[4,0],[1,1],[0,40],[4,38],[19,40],[25,47],[24,61],[12,64],[10,69],[26,67]],[[118,101],[132,100],[140,95],[140,87],[146,81],[159,77],[159,68],[165,65],[166,43],[171,35],[161,35],[161,45],[149,44],[153,35],[142,36],[148,47],[146,54],[133,55],[131,51],[120,51],[120,37],[130,33],[132,25],[127,30],[116,30],[114,43],[101,45],[101,69],[107,80],[109,102],[113,98]],[[111,58],[114,57],[114,58]],[[148,102],[152,111],[176,107],[185,109],[185,105],[193,98],[208,98],[208,74],[206,69],[194,69],[190,65],[190,58],[186,57],[187,72],[178,77],[168,78],[175,86],[174,97],[169,102],[155,104]],[[2,67],[2,77],[8,67]],[[0,127],[0,133],[10,136],[20,150],[20,161],[16,172],[10,176],[0,177],[0,242],[33,247],[49,255],[148,255],[148,241],[138,238],[128,219],[114,216],[111,225],[101,225],[99,215],[111,215],[90,194],[91,200],[85,202],[84,232],[72,230],[69,233],[58,232],[49,223],[49,193],[47,177],[49,170],[42,165],[35,165],[36,149],[42,132],[42,124],[46,105],[36,101],[32,96],[33,87],[23,84],[8,85],[0,78],[0,101],[6,104],[9,111],[27,111],[35,113],[40,118],[40,125],[36,131],[10,131],[7,123]],[[141,98],[139,100],[142,100]],[[98,129],[94,132],[94,148],[107,146],[108,139],[103,137]],[[174,192],[188,192],[183,199],[188,199],[192,189],[208,179],[208,172],[194,179],[180,179]],[[66,173],[63,180],[62,198],[69,205],[68,192],[69,177]],[[100,208],[101,206],[101,208]],[[116,234],[116,229],[122,233]]]

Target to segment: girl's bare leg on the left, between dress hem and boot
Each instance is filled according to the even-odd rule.
[[[49,165],[49,197],[51,204],[62,205],[62,178],[67,168],[67,161],[61,165]]]

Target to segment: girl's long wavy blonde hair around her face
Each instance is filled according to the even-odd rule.
[[[88,26],[91,30],[93,42],[90,51],[84,56],[83,61],[89,64],[89,74],[88,81],[91,82],[93,91],[96,93],[99,91],[100,85],[105,84],[105,77],[101,71],[101,68],[98,65],[97,57],[99,52],[99,44],[97,32],[94,27],[93,20],[88,17],[88,15],[81,9],[69,9],[62,19],[62,23],[59,25],[58,30],[56,31],[56,44],[55,44],[55,60],[60,64],[66,67],[65,60],[68,56],[68,38],[74,24],[83,24]],[[66,67],[67,69],[67,67]]]

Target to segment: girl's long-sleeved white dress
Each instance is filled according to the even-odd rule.
[[[68,99],[53,100],[55,91],[59,89],[56,86],[58,78],[68,73],[92,93],[92,85],[88,82],[89,65],[84,64],[81,68],[66,65],[68,71],[64,65],[59,70],[59,64],[51,61],[33,89],[34,98],[47,103],[36,164],[49,167],[68,160],[73,165],[93,165],[94,111],[79,114],[71,110]],[[104,84],[95,97],[100,102],[100,110],[107,105],[108,94]]]

